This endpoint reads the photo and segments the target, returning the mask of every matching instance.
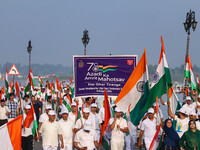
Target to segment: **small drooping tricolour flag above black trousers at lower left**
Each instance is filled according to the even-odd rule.
[[[23,127],[32,128],[33,135],[35,134],[36,129],[38,128],[37,119],[35,115],[35,110],[33,104],[31,105],[31,109],[29,110],[25,120]]]

